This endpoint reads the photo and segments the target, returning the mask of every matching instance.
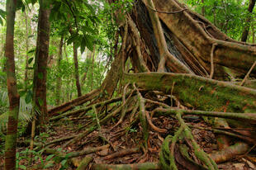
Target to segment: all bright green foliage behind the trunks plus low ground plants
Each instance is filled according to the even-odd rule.
[[[31,121],[31,98],[32,98],[32,70],[34,69],[34,56],[36,53],[36,26],[38,20],[38,1],[19,0],[17,1],[17,19],[15,25],[15,57],[17,66],[17,87],[21,95],[18,132],[21,136],[26,129],[28,121]],[[47,104],[56,105],[55,92],[61,90],[61,103],[68,102],[77,97],[75,87],[74,66],[73,66],[73,47],[78,48],[78,72],[83,84],[83,94],[92,89],[100,87],[103,78],[107,73],[107,67],[111,65],[114,58],[113,46],[115,43],[116,32],[119,26],[113,17],[116,12],[121,14],[130,12],[133,0],[116,1],[111,4],[106,1],[79,1],[79,0],[54,0],[50,1],[52,12],[50,14],[50,59],[47,68]],[[239,40],[245,26],[246,18],[251,15],[252,23],[255,26],[256,13],[249,14],[247,11],[248,2],[244,0],[183,0],[189,7],[201,13],[205,9],[205,17],[213,22],[225,34]],[[2,4],[1,4],[2,5]],[[26,13],[25,13],[26,12]],[[4,65],[6,59],[4,54],[5,38],[5,12],[0,9],[0,139],[4,139],[7,124],[7,89],[6,73]],[[26,18],[29,23],[29,35],[26,35]],[[122,15],[118,19],[122,19]],[[64,37],[63,59],[58,65],[59,58],[59,39]],[[119,39],[119,37],[118,37]],[[29,41],[29,48],[26,50],[26,41]],[[252,41],[252,35],[249,40]],[[120,47],[120,43],[117,45]],[[94,62],[92,62],[92,51],[95,49]],[[26,60],[26,55],[28,60]],[[29,67],[26,68],[26,62]],[[25,81],[25,72],[28,79]],[[56,80],[61,78],[61,89],[56,88]],[[26,87],[26,88],[25,88]],[[88,113],[90,114],[90,113]],[[91,113],[92,117],[95,117]],[[47,127],[47,126],[46,126]],[[130,133],[137,131],[135,127],[130,127]],[[44,143],[49,134],[42,133],[36,140]],[[3,140],[2,140],[3,141]],[[2,142],[0,140],[0,154],[2,152]],[[60,151],[60,150],[59,150]],[[41,152],[30,151],[28,149],[17,153],[17,168],[26,169],[18,165],[21,159],[26,159],[29,154],[33,154],[36,160],[40,160],[40,168],[53,166],[52,161],[59,159],[56,155],[49,155],[45,160]],[[61,160],[62,168],[67,166],[67,158]]]

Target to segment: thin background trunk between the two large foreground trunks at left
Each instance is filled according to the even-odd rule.
[[[26,14],[26,10],[24,11],[24,17],[25,17],[25,21],[26,21],[26,68],[25,68],[25,78],[24,78],[24,84],[25,84],[25,90],[27,90],[27,83],[28,83],[28,76],[27,76],[27,72],[28,72],[28,49],[29,49],[29,39],[28,39],[28,35],[29,35],[29,27],[28,27],[28,17]]]

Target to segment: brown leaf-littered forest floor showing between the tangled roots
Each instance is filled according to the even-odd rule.
[[[207,125],[206,122],[198,116],[186,116],[184,120],[186,120],[187,125],[191,125],[192,135],[194,139],[196,139],[197,144],[201,146],[201,149],[203,149],[206,153],[216,151],[216,135],[214,135],[211,131],[199,130],[198,128],[195,128],[211,128],[210,125]],[[166,135],[173,135],[174,131],[178,129],[178,121],[173,118],[167,118],[164,116],[159,118],[153,118],[152,121],[154,125],[156,125],[160,129],[166,129],[168,131],[166,133],[161,134],[158,132],[149,131],[147,153],[145,153],[143,149],[141,149],[140,147],[144,141],[143,130],[140,123],[134,125],[130,128],[130,130],[127,131],[126,125],[128,124],[128,121],[126,122],[126,120],[124,120],[124,122],[121,125],[118,125],[114,129],[112,129],[112,125],[116,124],[116,120],[114,119],[107,121],[106,125],[102,125],[101,130],[94,130],[90,135],[86,136],[76,144],[70,144],[67,147],[64,147],[63,144],[65,142],[62,142],[59,144],[55,144],[53,149],[70,153],[92,147],[97,148],[108,143],[110,144],[109,147],[107,147],[106,149],[102,149],[101,151],[88,154],[87,157],[92,157],[93,163],[107,164],[158,162],[161,145],[164,141],[164,138],[166,137]],[[55,122],[54,125],[48,126],[47,134],[45,133],[44,135],[41,135],[40,140],[45,140],[45,143],[47,143],[55,139],[61,139],[76,134],[78,135],[79,131],[74,131],[77,130],[79,125],[83,125],[83,122],[73,120],[59,120]],[[19,164],[24,165],[20,166],[23,167],[23,169],[25,169],[24,167],[26,167],[26,169],[76,169],[75,166],[78,166],[77,164],[79,160],[82,160],[85,157],[80,156],[74,158],[72,161],[72,166],[65,166],[63,162],[51,162],[51,160],[53,160],[54,157],[50,158],[49,156],[44,154],[44,156],[34,156],[34,161],[31,163],[31,165],[29,165],[29,161],[27,158],[28,155],[23,155],[23,157],[21,157],[22,151],[24,153],[24,150],[26,149],[28,149],[28,147],[18,148],[18,152],[20,153],[18,156],[20,159]],[[254,163],[251,162],[249,158],[249,155],[242,155],[228,163],[218,164],[218,168],[226,170],[256,169],[256,166],[254,165]],[[50,163],[50,168],[45,167],[47,161]],[[1,162],[3,163],[2,158],[0,158],[0,163]],[[183,168],[182,165],[180,164],[178,168],[187,169]],[[90,165],[88,166],[88,169],[90,169]]]

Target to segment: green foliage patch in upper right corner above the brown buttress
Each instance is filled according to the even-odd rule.
[[[248,2],[243,0],[186,0],[188,5],[196,12],[205,9],[205,17],[214,23],[221,31],[235,40],[240,40],[246,18],[249,14]],[[255,10],[254,10],[255,11]],[[256,13],[252,14],[255,18]]]

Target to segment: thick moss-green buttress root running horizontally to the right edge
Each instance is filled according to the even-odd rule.
[[[123,84],[135,83],[145,90],[158,90],[178,97],[202,111],[256,111],[256,90],[182,73],[125,73]],[[174,86],[173,86],[174,83]],[[173,89],[172,89],[173,87]]]

